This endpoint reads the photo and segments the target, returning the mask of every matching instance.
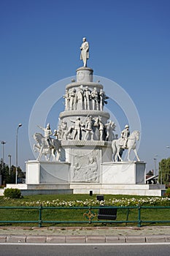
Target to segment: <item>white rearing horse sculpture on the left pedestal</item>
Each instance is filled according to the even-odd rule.
[[[45,140],[45,137],[41,133],[35,133],[34,134],[34,140],[36,140],[37,144],[34,144],[34,151],[36,149],[39,151],[39,156],[37,157],[37,161],[39,161],[42,157],[42,155],[45,155],[45,159],[47,161],[50,161],[51,155],[53,155],[53,161],[58,161],[60,157],[60,147],[61,143],[58,139],[51,139],[50,140],[50,147],[47,144],[47,141]],[[55,157],[55,153],[57,152],[57,155]],[[49,157],[47,157],[49,155]]]

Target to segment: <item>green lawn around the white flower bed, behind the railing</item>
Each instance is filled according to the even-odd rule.
[[[110,198],[147,198],[142,196],[131,196],[131,195],[104,195],[105,200],[109,200]],[[34,196],[25,196],[20,199],[13,200],[4,200],[4,197],[0,197],[0,206],[21,206],[22,202],[32,202],[32,201],[52,201],[52,200],[87,200],[87,199],[96,199],[96,195],[34,195]],[[92,209],[93,213],[96,214],[96,217],[92,219],[96,223],[85,223],[88,222],[88,219],[85,217],[85,213],[88,213],[88,209],[74,209],[74,208],[66,208],[66,209],[44,209],[42,211],[42,220],[43,221],[51,221],[50,223],[43,223],[43,226],[98,226],[103,225],[98,222],[97,214],[98,209]],[[107,224],[112,226],[137,226],[137,223],[118,223],[119,221],[125,221],[128,214],[128,221],[137,221],[138,220],[138,209],[130,209],[128,213],[128,209],[126,208],[118,208],[117,209],[117,223]],[[169,220],[170,222],[170,208],[162,209],[162,208],[150,208],[150,209],[142,209],[141,211],[141,219],[142,221],[152,220]],[[16,221],[15,223],[0,223],[1,226],[9,226],[9,225],[23,225],[23,226],[38,226],[39,220],[39,209],[34,208],[26,208],[26,209],[15,209],[15,208],[0,208],[0,221]],[[31,223],[18,223],[18,221],[29,221]],[[53,223],[53,221],[57,221],[58,223]],[[63,223],[63,221],[65,223]],[[82,223],[67,223],[67,222],[77,222],[81,221]],[[169,225],[170,223],[152,223],[152,225]],[[142,223],[142,225],[151,225],[150,223]]]

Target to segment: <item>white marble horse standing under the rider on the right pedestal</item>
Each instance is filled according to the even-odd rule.
[[[136,152],[136,140],[139,140],[139,134],[140,134],[139,131],[134,131],[128,137],[128,142],[127,142],[128,161],[131,161],[131,159],[129,158],[131,149],[134,150],[137,160],[140,161],[140,159],[137,155],[137,152]],[[119,138],[117,140],[112,140],[112,152],[113,152],[113,158],[114,158],[115,162],[117,162],[117,158],[120,161],[123,161],[123,159],[120,157],[120,151],[123,149],[122,140],[123,140],[123,138]]]

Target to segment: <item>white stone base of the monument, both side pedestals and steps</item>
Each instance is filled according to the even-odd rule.
[[[164,185],[146,184],[145,162],[104,162],[94,181],[74,181],[69,162],[26,162],[26,184],[17,187],[22,195],[93,194],[163,196]],[[89,167],[90,168],[90,167]],[[89,171],[93,172],[93,168]],[[81,179],[80,179],[81,180]]]

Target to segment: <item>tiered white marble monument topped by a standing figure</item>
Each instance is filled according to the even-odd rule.
[[[109,97],[101,83],[93,82],[93,69],[87,67],[89,44],[85,37],[82,41],[83,67],[76,71],[77,80],[63,91],[65,108],[59,113],[58,127],[52,131],[50,124],[39,126],[44,135],[34,134],[37,159],[26,162],[25,186],[36,193],[39,189],[54,193],[62,188],[73,193],[93,190],[102,194],[161,196],[163,186],[146,184],[146,164],[136,152],[139,131],[130,134],[126,124],[120,138],[115,136],[116,124],[104,110]],[[128,162],[123,162],[126,149]],[[134,162],[129,157],[131,149],[136,154]]]

